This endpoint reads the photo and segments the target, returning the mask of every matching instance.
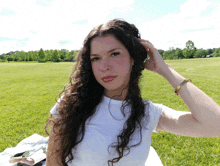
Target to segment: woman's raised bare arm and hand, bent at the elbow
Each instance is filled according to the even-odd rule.
[[[164,77],[176,89],[185,78],[165,63],[149,41],[140,42],[149,55],[145,68]],[[157,130],[191,137],[220,137],[220,106],[190,82],[181,87],[179,96],[190,112],[164,111]]]

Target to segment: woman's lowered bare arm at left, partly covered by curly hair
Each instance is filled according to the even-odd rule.
[[[56,118],[52,115],[52,121],[56,121]],[[47,166],[62,166],[61,160],[59,160],[59,157],[57,157],[56,154],[51,154],[59,149],[60,143],[59,141],[54,141],[55,134],[54,134],[54,128],[53,123],[51,124],[51,130],[48,140],[48,147],[47,147],[47,157],[46,157],[46,165]]]

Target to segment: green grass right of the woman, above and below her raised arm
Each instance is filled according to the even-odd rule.
[[[220,58],[166,61],[185,78],[220,105]],[[141,80],[142,97],[170,108],[188,111],[173,87],[161,76],[144,71]],[[220,165],[220,138],[192,138],[170,133],[153,133],[152,146],[164,165]]]

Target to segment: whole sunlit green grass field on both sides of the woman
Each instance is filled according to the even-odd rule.
[[[166,61],[220,104],[220,58]],[[73,63],[0,63],[0,152],[44,127],[55,98],[68,82]],[[144,71],[144,99],[188,110],[162,77]],[[152,146],[165,166],[220,165],[220,138],[189,138],[153,133]]]

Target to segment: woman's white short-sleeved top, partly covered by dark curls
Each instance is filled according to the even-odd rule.
[[[74,160],[69,166],[108,166],[108,160],[118,157],[114,148],[108,147],[110,144],[117,142],[117,136],[123,129],[123,125],[130,114],[130,107],[125,107],[124,117],[121,113],[123,101],[110,99],[103,96],[102,101],[96,107],[95,114],[87,119],[85,136],[73,150]],[[144,101],[146,115],[149,115],[149,123],[147,116],[142,119],[142,142],[140,145],[130,148],[130,153],[114,163],[114,166],[145,166],[148,157],[151,134],[156,129],[161,113],[170,109],[162,104],[154,104],[151,101]],[[51,114],[58,116],[56,104],[51,109]],[[139,129],[131,136],[128,146],[139,143]],[[125,154],[127,154],[125,152]]]

